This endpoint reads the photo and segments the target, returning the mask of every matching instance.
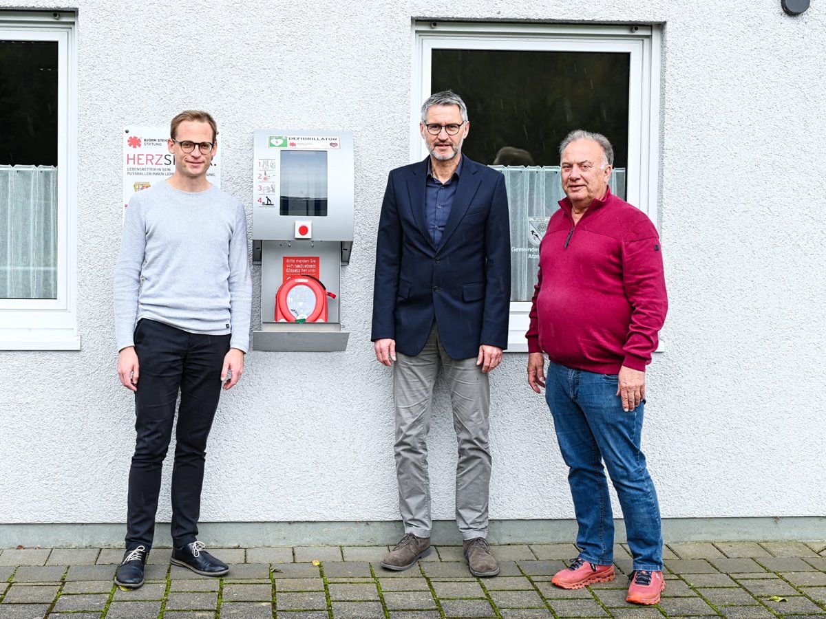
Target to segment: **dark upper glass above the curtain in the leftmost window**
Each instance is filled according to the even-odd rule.
[[[57,42],[0,40],[0,165],[57,165]]]

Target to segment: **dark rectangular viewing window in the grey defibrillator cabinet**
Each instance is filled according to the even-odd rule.
[[[327,153],[281,151],[281,215],[327,216]]]

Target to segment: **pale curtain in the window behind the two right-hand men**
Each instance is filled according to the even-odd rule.
[[[510,300],[529,301],[534,296],[539,267],[539,241],[548,219],[565,197],[558,166],[491,166],[505,175],[510,208]],[[615,168],[611,191],[625,198],[625,170]]]

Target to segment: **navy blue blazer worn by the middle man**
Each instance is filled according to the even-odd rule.
[[[439,249],[425,222],[427,159],[387,179],[376,243],[373,341],[396,340],[418,355],[435,319],[445,352],[477,357],[506,348],[510,309],[510,218],[505,177],[463,159]]]

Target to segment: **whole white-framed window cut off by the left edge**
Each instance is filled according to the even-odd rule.
[[[78,350],[74,16],[0,12],[0,349]]]

